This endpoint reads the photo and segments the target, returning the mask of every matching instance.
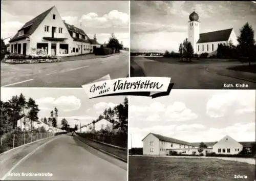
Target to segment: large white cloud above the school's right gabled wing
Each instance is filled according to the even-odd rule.
[[[234,110],[232,114],[243,114],[255,112],[255,100],[252,99],[252,90],[244,94],[241,90],[231,90],[229,92],[216,94],[211,97],[206,105],[206,114],[212,118],[223,117],[227,112]]]

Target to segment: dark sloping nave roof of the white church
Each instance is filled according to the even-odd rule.
[[[232,32],[232,28],[227,30],[200,33],[199,40],[197,41],[197,43],[227,41],[231,32]]]

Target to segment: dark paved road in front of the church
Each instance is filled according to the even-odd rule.
[[[232,89],[255,89],[256,83],[240,80],[232,77],[218,75],[216,73],[208,72],[207,66],[226,66],[231,62],[217,62],[214,63],[191,63],[191,64],[180,64],[180,63],[161,63],[154,60],[149,60],[143,57],[133,58],[134,62],[137,63],[146,76],[157,76],[157,77],[171,77],[174,83],[173,88],[181,89],[231,89],[231,87],[224,87],[224,84],[245,83],[248,84],[248,88],[236,88]],[[136,75],[131,75],[136,76]]]

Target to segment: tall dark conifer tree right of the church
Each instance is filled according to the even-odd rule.
[[[251,65],[251,61],[255,60],[254,53],[254,31],[252,27],[246,24],[240,29],[240,36],[238,37],[238,52],[240,58],[246,58]]]

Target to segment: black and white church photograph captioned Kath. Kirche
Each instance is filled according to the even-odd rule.
[[[256,89],[255,1],[131,1],[131,77]]]

